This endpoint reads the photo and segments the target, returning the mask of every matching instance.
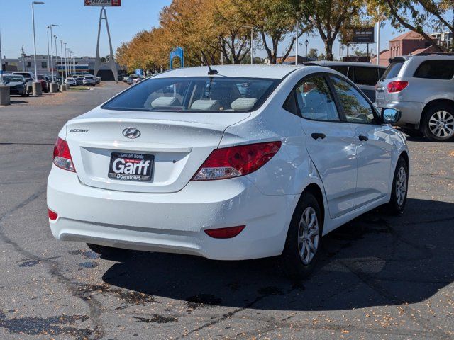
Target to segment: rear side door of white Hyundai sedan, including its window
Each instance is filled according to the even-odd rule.
[[[356,187],[355,136],[341,123],[326,74],[303,78],[294,89],[306,148],[326,193],[331,217],[353,209]]]

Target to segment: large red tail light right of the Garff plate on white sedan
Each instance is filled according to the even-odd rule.
[[[279,151],[281,142],[265,142],[216,149],[196,172],[192,181],[231,179],[260,169]]]

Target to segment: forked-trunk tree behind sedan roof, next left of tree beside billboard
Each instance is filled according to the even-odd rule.
[[[260,36],[261,47],[267,52],[271,64],[277,63],[277,49],[284,38],[295,31],[299,21],[299,36],[309,33],[313,26],[307,20],[306,8],[300,7],[294,0],[231,0],[238,8],[240,21],[245,26],[255,28]],[[284,50],[280,62],[289,56],[295,43],[295,37],[290,40]]]

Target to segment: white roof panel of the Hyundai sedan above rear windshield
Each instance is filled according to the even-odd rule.
[[[267,78],[283,79],[299,69],[294,65],[212,65],[211,69],[216,69],[218,74],[211,77],[244,77],[244,78]],[[170,77],[208,77],[208,67],[183,67],[171,69],[166,72],[155,75],[153,78],[170,78]]]

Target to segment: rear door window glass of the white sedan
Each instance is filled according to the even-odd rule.
[[[297,106],[303,118],[339,120],[336,103],[324,77],[309,78],[295,91]]]

